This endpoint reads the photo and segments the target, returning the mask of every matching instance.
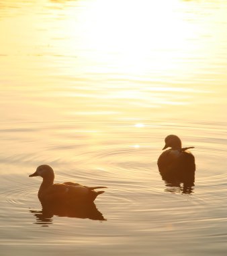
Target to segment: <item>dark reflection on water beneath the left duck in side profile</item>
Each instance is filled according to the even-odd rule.
[[[69,217],[69,218],[81,218],[90,220],[106,220],[103,214],[97,210],[95,203],[79,203],[77,205],[42,205],[42,210],[30,210],[36,217],[35,224],[41,224],[42,226],[48,226],[52,224],[54,216]]]

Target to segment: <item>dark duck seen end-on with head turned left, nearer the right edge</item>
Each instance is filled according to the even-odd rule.
[[[166,150],[169,148],[168,150]],[[193,181],[195,177],[195,157],[188,150],[194,147],[182,148],[181,139],[177,135],[165,138],[165,150],[158,157],[158,170],[163,179],[177,179],[182,182]]]

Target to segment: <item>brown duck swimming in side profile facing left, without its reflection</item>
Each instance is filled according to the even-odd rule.
[[[106,187],[87,187],[79,183],[64,182],[54,184],[54,170],[47,164],[42,164],[36,168],[36,172],[29,177],[42,177],[42,184],[38,191],[38,199],[44,205],[73,205],[77,203],[91,203],[95,201],[97,195],[105,191],[95,191]]]

